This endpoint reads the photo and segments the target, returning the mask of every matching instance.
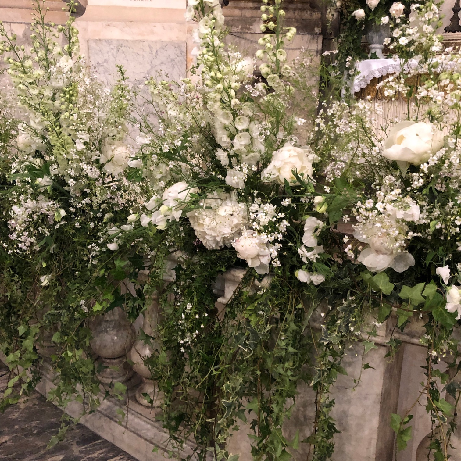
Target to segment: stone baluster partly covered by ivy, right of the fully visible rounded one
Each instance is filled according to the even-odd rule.
[[[151,305],[144,313],[142,324],[142,330],[151,337],[151,340],[146,344],[143,340],[138,339],[129,354],[133,369],[142,377],[142,383],[136,389],[136,400],[146,407],[160,407],[163,402],[163,393],[159,392],[148,366],[144,365],[146,358],[160,351],[158,325],[162,318],[159,294],[156,292],[152,296]],[[146,394],[149,398],[145,397]]]

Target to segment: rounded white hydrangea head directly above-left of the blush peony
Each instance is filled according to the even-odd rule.
[[[203,208],[187,214],[198,239],[209,250],[231,247],[231,242],[248,224],[247,206],[233,200],[229,194],[217,192],[208,194],[200,206]]]

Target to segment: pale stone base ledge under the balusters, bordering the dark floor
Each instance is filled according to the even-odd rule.
[[[1,352],[0,361],[6,362],[6,357]],[[44,361],[41,365],[41,381],[35,388],[37,392],[47,397],[50,390],[55,387],[53,380],[56,377],[51,365]],[[169,457],[171,446],[168,445],[168,432],[159,421],[155,420],[160,412],[158,408],[151,409],[137,403],[134,387],[129,389],[126,403],[113,398],[102,400],[103,397],[104,394],[101,394],[101,404],[96,411],[83,416],[80,420],[83,426],[139,461],[165,461],[165,458]],[[61,409],[72,418],[78,418],[83,414],[83,405],[78,402],[71,402],[66,408]],[[117,410],[120,409],[126,414],[121,424],[119,424],[120,416],[117,414]],[[182,455],[191,454],[193,449],[193,444],[189,444]],[[170,459],[177,460],[177,458]]]

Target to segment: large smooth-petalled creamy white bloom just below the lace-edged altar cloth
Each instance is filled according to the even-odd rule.
[[[384,157],[401,167],[421,165],[443,147],[443,132],[431,123],[407,120],[394,125],[383,147]]]

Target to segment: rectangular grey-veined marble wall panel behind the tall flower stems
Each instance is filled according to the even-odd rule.
[[[186,75],[186,42],[89,39],[90,65],[106,83],[118,79],[116,65],[123,65],[129,82],[144,85],[149,76],[179,80]]]

